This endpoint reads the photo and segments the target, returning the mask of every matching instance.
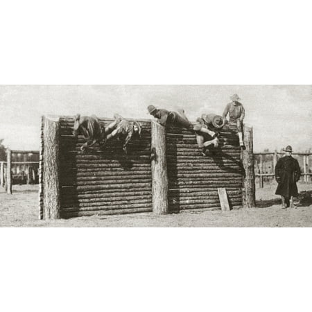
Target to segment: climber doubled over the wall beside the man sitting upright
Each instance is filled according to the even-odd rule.
[[[220,130],[225,125],[225,119],[216,114],[202,114],[201,118],[196,120],[194,130],[196,132],[196,140],[199,148],[202,148],[202,155],[206,155],[209,146],[215,148],[219,145],[218,136]],[[209,139],[207,139],[209,137]]]

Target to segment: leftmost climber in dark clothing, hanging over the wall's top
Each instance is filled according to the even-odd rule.
[[[86,148],[94,146],[96,143],[98,143],[101,148],[105,144],[105,130],[101,127],[95,115],[80,116],[80,114],[76,114],[76,116],[73,117],[73,135],[83,135],[85,138],[85,144],[80,147],[82,152],[84,152]]]

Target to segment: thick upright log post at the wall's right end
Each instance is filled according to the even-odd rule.
[[[254,148],[252,142],[252,127],[244,125],[243,168],[245,177],[243,180],[243,207],[251,208],[256,206],[256,187],[254,185]]]

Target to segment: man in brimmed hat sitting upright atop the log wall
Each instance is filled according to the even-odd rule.
[[[243,105],[239,102],[241,98],[237,94],[230,97],[232,102],[228,103],[223,112],[223,117],[226,118],[229,114],[229,125],[237,125],[237,130],[239,132],[239,146],[245,149],[243,142],[243,120],[245,118],[245,109]]]

